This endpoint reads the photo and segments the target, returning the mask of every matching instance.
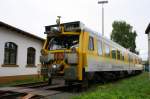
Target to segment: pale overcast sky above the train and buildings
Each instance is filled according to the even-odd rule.
[[[44,26],[82,21],[101,33],[101,5],[98,0],[0,0],[0,21],[45,37]],[[150,0],[109,0],[105,7],[105,36],[110,38],[112,22],[124,20],[137,31],[136,45],[140,56],[147,59],[148,40],[145,29],[150,22]]]

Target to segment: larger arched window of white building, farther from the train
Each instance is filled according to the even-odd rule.
[[[17,45],[13,42],[5,43],[4,64],[16,65],[17,61]]]

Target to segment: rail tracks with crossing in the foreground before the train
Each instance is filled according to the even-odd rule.
[[[61,94],[68,89],[79,86],[79,84],[66,86],[63,82],[58,82],[52,85],[48,85],[47,82],[38,82],[13,87],[2,87],[0,88],[0,99],[45,99],[46,97]]]

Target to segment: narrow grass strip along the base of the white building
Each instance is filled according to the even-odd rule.
[[[15,85],[20,85],[20,84],[27,84],[27,83],[34,83],[34,82],[41,82],[43,81],[42,77],[28,77],[25,78],[24,80],[15,80],[9,83],[2,83],[0,84],[0,87],[8,87],[8,86],[15,86]]]

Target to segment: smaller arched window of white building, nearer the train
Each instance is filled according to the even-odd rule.
[[[27,65],[28,66],[35,65],[35,49],[33,47],[29,47],[27,49]]]

